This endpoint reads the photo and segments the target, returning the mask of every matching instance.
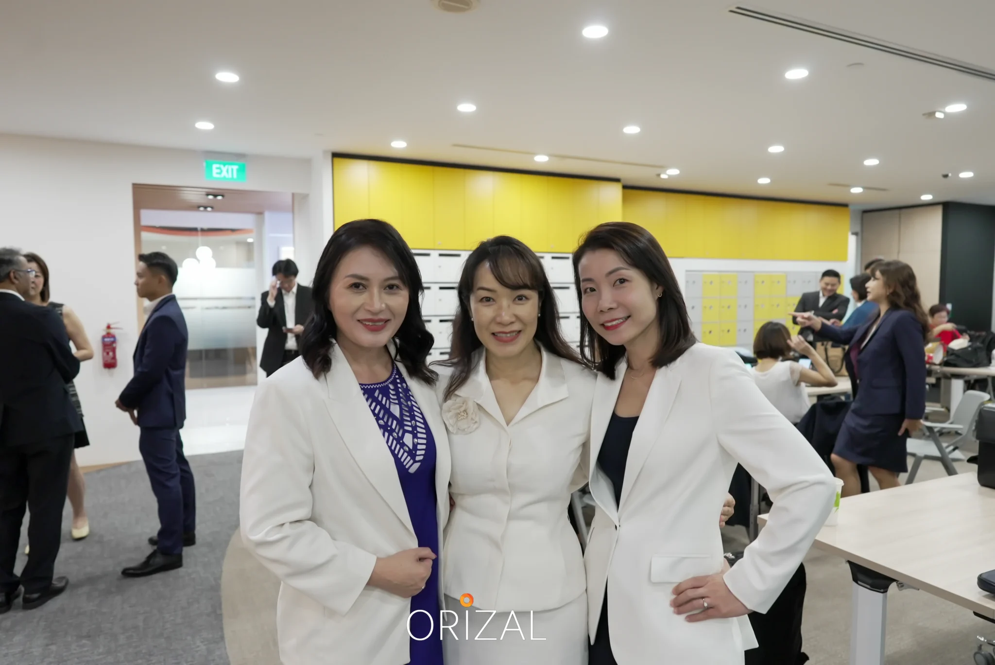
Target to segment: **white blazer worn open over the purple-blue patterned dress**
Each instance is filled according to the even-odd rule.
[[[442,543],[446,429],[433,389],[397,365],[435,437]],[[256,390],[241,501],[246,547],[282,582],[277,628],[284,663],[410,660],[411,601],[366,582],[378,556],[417,548],[418,541],[394,458],[337,345],[321,378],[298,358]]]

